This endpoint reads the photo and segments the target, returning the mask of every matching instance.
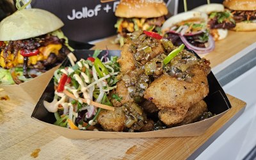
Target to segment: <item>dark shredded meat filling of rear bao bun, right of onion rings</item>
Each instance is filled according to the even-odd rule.
[[[222,23],[218,23],[218,19],[216,17],[209,20],[208,25],[211,29],[231,29],[236,27],[236,24],[230,21],[223,21]]]

